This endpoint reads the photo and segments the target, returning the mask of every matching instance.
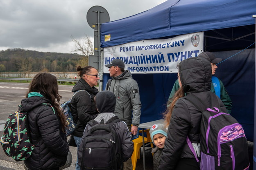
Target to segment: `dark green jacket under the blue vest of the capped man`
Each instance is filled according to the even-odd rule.
[[[220,99],[222,100],[223,104],[225,105],[227,112],[230,114],[231,113],[231,108],[232,108],[232,101],[229,97],[229,94],[227,93],[226,88],[224,87],[222,81],[219,79],[220,81]],[[172,97],[174,96],[175,92],[178,91],[179,89],[179,81],[176,80],[176,82],[174,83],[173,87],[172,87],[172,91],[170,93],[168,102],[167,102],[167,107],[171,105],[172,103]],[[211,83],[211,92],[215,93],[214,87],[213,87],[213,83]],[[185,93],[186,95],[186,93]]]

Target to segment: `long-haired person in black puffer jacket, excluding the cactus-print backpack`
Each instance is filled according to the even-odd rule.
[[[65,133],[66,117],[59,108],[57,78],[38,73],[29,84],[27,98],[21,105],[28,115],[29,133],[35,148],[24,160],[29,170],[59,170],[66,163],[68,142]],[[44,105],[49,103],[53,109]]]

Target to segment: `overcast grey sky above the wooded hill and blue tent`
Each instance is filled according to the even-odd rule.
[[[110,21],[155,7],[165,0],[0,0],[0,50],[21,48],[71,53],[85,34],[93,38],[87,11],[101,6]]]

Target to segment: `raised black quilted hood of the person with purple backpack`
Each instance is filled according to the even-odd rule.
[[[179,64],[179,76],[185,93],[211,90],[211,63],[202,57],[192,57]]]

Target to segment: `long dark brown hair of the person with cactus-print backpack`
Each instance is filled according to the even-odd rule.
[[[51,101],[61,120],[61,129],[65,132],[66,117],[59,107],[62,96],[58,93],[57,78],[50,73],[38,73],[29,84],[29,90],[26,96],[28,97],[28,94],[31,92],[40,92],[46,99]]]

